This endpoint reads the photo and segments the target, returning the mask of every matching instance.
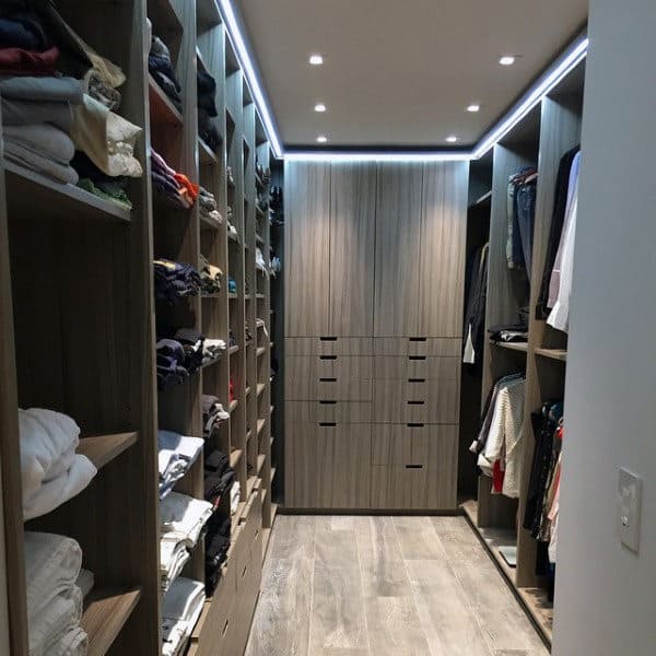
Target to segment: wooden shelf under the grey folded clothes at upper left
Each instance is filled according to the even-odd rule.
[[[112,200],[98,198],[74,185],[57,183],[34,171],[27,171],[12,162],[4,162],[7,172],[7,199],[10,210],[28,210],[43,213],[47,208],[49,218],[74,216],[83,220],[103,220],[128,223],[130,210]]]

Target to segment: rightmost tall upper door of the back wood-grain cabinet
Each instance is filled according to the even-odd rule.
[[[460,337],[468,164],[424,165],[418,335]]]

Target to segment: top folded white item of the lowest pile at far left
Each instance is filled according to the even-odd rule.
[[[82,550],[71,538],[25,531],[27,622],[35,625],[60,595],[70,594],[82,566]]]

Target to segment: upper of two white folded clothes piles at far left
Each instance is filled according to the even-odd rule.
[[[19,409],[23,518],[45,515],[72,499],[96,468],[75,453],[80,426],[66,414],[43,408]]]

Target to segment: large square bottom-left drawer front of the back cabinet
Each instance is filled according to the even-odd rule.
[[[286,505],[368,508],[371,431],[366,424],[286,422]]]

